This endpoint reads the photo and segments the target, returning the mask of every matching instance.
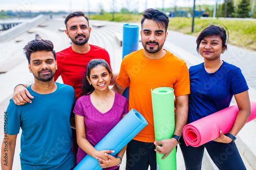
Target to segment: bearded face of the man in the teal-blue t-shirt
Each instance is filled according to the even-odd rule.
[[[51,51],[38,51],[31,53],[29,70],[35,81],[49,82],[53,80],[57,68],[54,55]]]

